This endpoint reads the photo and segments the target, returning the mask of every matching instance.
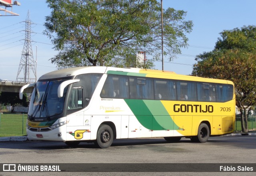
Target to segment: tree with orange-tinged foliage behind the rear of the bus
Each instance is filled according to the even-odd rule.
[[[213,51],[196,56],[192,74],[234,82],[242,131],[248,132],[247,110],[256,104],[256,26],[220,34]]]

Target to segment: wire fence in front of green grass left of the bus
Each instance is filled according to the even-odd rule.
[[[26,135],[27,114],[0,112],[0,137]]]

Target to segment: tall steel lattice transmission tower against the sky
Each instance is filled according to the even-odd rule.
[[[25,28],[25,42],[21,54],[20,66],[17,74],[16,81],[20,82],[36,82],[36,68],[34,64],[34,57],[31,46],[31,24],[34,24],[29,19],[29,11],[26,18],[26,28]],[[19,78],[20,72],[23,70],[24,77]],[[30,73],[34,76],[30,77]],[[21,76],[20,76],[21,77]]]

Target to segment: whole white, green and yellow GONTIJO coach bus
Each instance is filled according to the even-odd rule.
[[[94,142],[182,137],[206,142],[234,132],[234,84],[139,68],[79,67],[41,76],[31,95],[29,140]]]

